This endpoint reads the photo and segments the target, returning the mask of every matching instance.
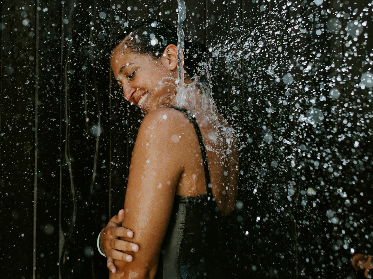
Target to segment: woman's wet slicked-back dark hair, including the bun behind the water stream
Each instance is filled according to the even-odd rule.
[[[129,35],[131,39],[126,39]],[[148,54],[155,59],[161,57],[167,45],[178,45],[176,27],[159,19],[144,20],[128,27],[115,39],[112,51],[124,39],[126,39],[126,49],[130,52]],[[184,45],[184,70],[191,77],[201,76],[200,80],[204,81],[206,79],[204,65],[209,50],[204,44],[196,44],[188,40],[185,40]]]

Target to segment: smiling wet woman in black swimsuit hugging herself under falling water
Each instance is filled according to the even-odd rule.
[[[110,65],[125,99],[146,115],[132,153],[124,211],[101,231],[101,248],[122,260],[110,278],[210,277],[217,219],[235,205],[234,131],[208,87],[192,81],[203,52],[186,43],[181,85],[176,45],[173,26],[150,20],[112,48]],[[123,228],[117,228],[122,219]],[[112,241],[116,237],[121,240]]]

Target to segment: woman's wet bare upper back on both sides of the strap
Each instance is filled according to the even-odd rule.
[[[200,130],[207,154],[212,193],[219,210],[226,215],[233,211],[237,197],[239,172],[237,139],[235,131],[217,111],[210,96],[203,96],[203,91],[208,90],[206,87],[206,84],[193,82],[184,87],[187,96],[184,95],[182,98],[188,101],[180,101],[181,98],[178,96],[177,99],[178,104],[180,103],[198,124],[197,129]],[[206,98],[209,99],[207,102]],[[180,153],[185,156],[186,164],[176,194],[198,196],[206,192],[202,164],[205,158],[201,154],[198,132],[196,133],[194,125],[185,115],[182,116],[182,112],[178,114],[179,117],[181,116],[178,121],[182,123],[179,133],[188,137],[188,144],[183,149],[188,148],[188,152],[180,150]]]

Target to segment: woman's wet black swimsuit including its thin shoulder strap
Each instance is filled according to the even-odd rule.
[[[159,258],[157,279],[210,278],[214,264],[212,242],[217,237],[219,209],[211,191],[209,165],[200,128],[188,110],[183,112],[194,125],[200,143],[206,179],[206,193],[196,197],[175,196],[169,226]]]

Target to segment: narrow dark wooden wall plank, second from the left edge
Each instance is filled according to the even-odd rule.
[[[60,2],[41,0],[35,6],[38,34],[38,201],[36,278],[61,278],[63,232],[60,226]],[[36,120],[36,118],[35,118]],[[50,263],[53,262],[53,265]]]

